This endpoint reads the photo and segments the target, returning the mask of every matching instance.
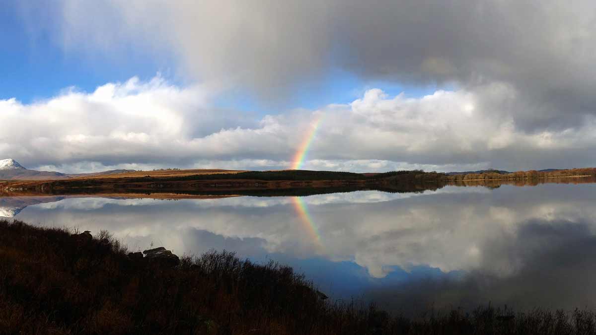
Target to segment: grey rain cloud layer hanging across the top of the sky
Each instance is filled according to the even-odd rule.
[[[595,112],[591,1],[63,0],[48,4],[56,19],[45,24],[45,12],[22,6],[69,51],[122,57],[132,45],[177,58],[200,82],[267,100],[342,70],[468,91],[504,83],[518,94],[499,113],[528,131],[577,126]]]

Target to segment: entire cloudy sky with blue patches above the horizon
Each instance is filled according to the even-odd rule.
[[[63,172],[595,166],[595,10],[3,1],[0,159]]]

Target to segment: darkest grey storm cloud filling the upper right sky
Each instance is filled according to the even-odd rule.
[[[471,88],[505,82],[519,92],[511,113],[524,125],[544,126],[559,116],[594,111],[596,6],[591,1],[383,1],[338,7],[339,34],[349,45],[343,49],[349,60],[344,66],[362,76],[455,80]]]

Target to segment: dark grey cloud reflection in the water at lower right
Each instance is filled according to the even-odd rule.
[[[421,311],[479,303],[515,309],[594,308],[596,236],[594,222],[529,220],[508,240],[483,245],[480,264],[460,278],[424,278],[370,289],[367,296],[392,311]],[[507,275],[492,269],[513,263]],[[390,277],[390,275],[389,275]],[[389,278],[388,277],[388,278]]]

